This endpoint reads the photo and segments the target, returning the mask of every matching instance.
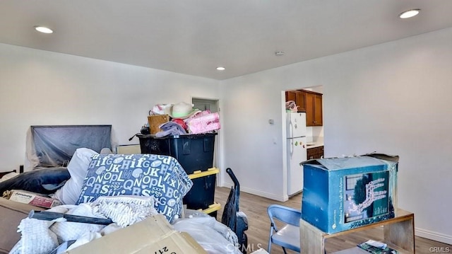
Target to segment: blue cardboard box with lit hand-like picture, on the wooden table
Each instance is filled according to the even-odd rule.
[[[304,161],[302,219],[336,233],[395,217],[398,156]]]

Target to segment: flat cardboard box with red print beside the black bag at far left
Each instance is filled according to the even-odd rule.
[[[11,201],[20,202],[24,204],[31,204],[37,207],[51,208],[61,205],[59,200],[52,197],[45,197],[39,193],[28,192],[25,190],[11,190],[6,195],[6,198]]]

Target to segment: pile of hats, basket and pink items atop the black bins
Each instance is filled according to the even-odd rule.
[[[185,102],[157,104],[149,111],[148,123],[141,128],[141,134],[155,134],[156,137],[204,134],[220,127],[218,112],[198,110]]]

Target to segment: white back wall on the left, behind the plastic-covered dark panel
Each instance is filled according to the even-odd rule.
[[[0,44],[0,171],[25,163],[30,125],[112,125],[138,144],[157,103],[219,98],[218,81]]]

